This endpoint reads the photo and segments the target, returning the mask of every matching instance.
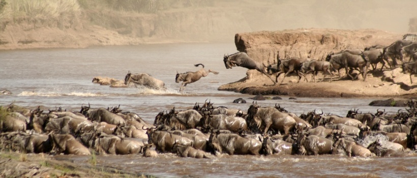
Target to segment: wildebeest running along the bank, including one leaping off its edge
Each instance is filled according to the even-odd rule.
[[[332,51],[327,54],[325,61],[300,57],[280,59],[279,51],[276,64],[269,64],[268,66],[255,62],[245,52],[236,52],[231,55],[225,54],[223,61],[227,69],[231,69],[233,66],[254,69],[269,77],[274,83],[277,83],[278,77],[284,73],[284,77],[280,81],[282,83],[285,77],[291,73],[295,73],[298,76],[298,82],[300,82],[302,76],[308,82],[306,74],[309,73],[312,73],[310,81],[315,81],[315,76],[318,72],[323,72],[321,81],[327,74],[330,74],[330,81],[332,81],[333,71],[338,71],[339,78],[341,78],[340,69],[345,69],[346,75],[352,80],[362,74],[365,81],[369,65],[372,66],[372,70],[375,70],[379,63],[381,64],[380,70],[384,67],[388,68],[385,64],[388,64],[390,69],[394,69],[398,65],[397,60],[400,60],[403,73],[410,74],[410,82],[412,83],[411,75],[417,74],[417,41],[405,40],[408,36],[414,37],[415,35],[406,34],[403,40],[397,40],[389,46],[374,45],[366,47],[364,50],[344,49],[337,53]],[[409,57],[408,62],[404,60],[404,57]],[[391,58],[391,62],[389,58]],[[265,72],[265,68],[267,72]],[[358,70],[359,74],[352,75],[354,70]],[[276,75],[275,80],[271,77],[272,74]]]

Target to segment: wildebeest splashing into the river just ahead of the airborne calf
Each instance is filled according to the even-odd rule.
[[[165,83],[146,73],[131,74],[130,71],[125,76],[125,84],[134,83],[146,86],[155,90],[165,90]]]

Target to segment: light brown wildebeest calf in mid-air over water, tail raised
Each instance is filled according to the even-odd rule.
[[[208,75],[208,73],[213,73],[213,74],[219,74],[219,72],[216,71],[212,71],[210,69],[208,69],[208,71],[206,71],[204,69],[204,65],[202,64],[196,64],[194,65],[195,67],[198,66],[202,66],[203,68],[201,68],[200,70],[196,71],[196,72],[186,72],[186,73],[178,73],[176,72],[175,75],[175,82],[179,83],[180,81],[183,81],[183,83],[181,84],[180,87],[180,92],[182,92],[185,88],[185,86],[187,86],[188,83],[194,83],[196,81],[198,81],[201,77],[206,77]]]

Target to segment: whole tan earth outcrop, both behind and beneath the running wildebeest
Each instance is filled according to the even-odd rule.
[[[255,61],[274,63],[279,53],[280,58],[310,57],[324,60],[329,52],[343,49],[364,49],[372,45],[390,45],[402,39],[401,34],[379,31],[376,29],[291,29],[275,32],[255,32],[235,35],[236,49],[247,52]],[[229,54],[234,51],[228,52]],[[233,70],[233,69],[231,69]],[[344,70],[342,69],[341,72]],[[366,81],[352,81],[347,78],[329,81],[295,83],[295,77],[286,77],[282,85],[274,85],[266,76],[254,70],[248,70],[247,76],[239,81],[221,85],[218,90],[234,91],[252,95],[290,95],[297,97],[399,97],[417,93],[415,84],[405,80],[408,74],[401,69],[395,70],[397,78],[392,80],[392,72],[369,72]],[[283,74],[282,74],[283,75]],[[341,74],[344,75],[344,72]],[[310,79],[308,75],[308,79]],[[322,76],[317,76],[321,78]],[[336,76],[334,77],[334,79]],[[282,76],[280,76],[282,79]],[[303,80],[303,79],[302,79]]]

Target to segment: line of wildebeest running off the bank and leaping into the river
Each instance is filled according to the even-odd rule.
[[[405,35],[404,39],[408,36],[410,36],[410,34]],[[415,35],[412,35],[412,37],[414,36]],[[358,76],[362,74],[365,81],[369,65],[372,66],[372,70],[376,70],[377,65],[380,63],[380,70],[382,70],[384,67],[388,68],[388,66],[385,66],[385,64],[388,64],[392,70],[397,67],[397,60],[400,60],[402,62],[401,67],[403,73],[410,74],[410,82],[412,83],[411,75],[417,74],[417,41],[404,39],[397,40],[389,46],[374,45],[366,47],[364,50],[344,49],[337,53],[332,51],[326,55],[324,61],[301,57],[280,59],[278,51],[276,64],[268,64],[268,66],[253,60],[245,52],[236,52],[230,55],[224,54],[223,62],[226,69],[240,66],[250,70],[257,70],[269,77],[275,84],[278,82],[278,77],[282,73],[284,73],[284,77],[280,83],[284,81],[286,76],[294,73],[297,75],[298,82],[300,82],[302,77],[308,82],[306,75],[309,73],[312,73],[310,81],[315,81],[315,76],[318,72],[323,73],[323,78],[320,81],[323,81],[326,75],[329,74],[330,82],[332,82],[334,71],[338,72],[339,78],[342,77],[340,75],[340,69],[345,69],[346,76],[350,77],[352,80],[357,79]],[[413,40],[415,39],[417,39],[417,36],[416,38],[413,38]],[[407,60],[408,62],[404,60],[405,57],[409,57]],[[391,61],[389,61],[389,59],[391,59]],[[205,70],[204,65],[202,64],[196,64],[194,66],[202,66],[202,68],[196,72],[176,72],[175,82],[182,82],[180,92],[184,90],[187,84],[196,82],[201,77],[206,77],[209,73],[219,74],[219,72],[216,71]],[[353,75],[354,70],[358,70],[359,74]],[[276,76],[275,80],[272,75]],[[93,79],[93,81],[95,80]],[[129,71],[125,77],[125,84],[128,83],[142,85],[156,90],[166,89],[163,81],[146,73],[131,74]]]

